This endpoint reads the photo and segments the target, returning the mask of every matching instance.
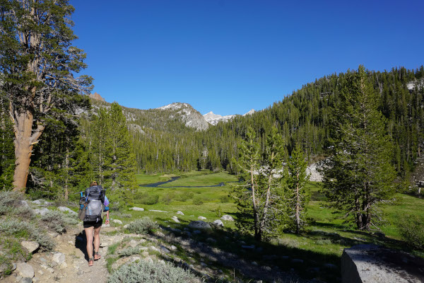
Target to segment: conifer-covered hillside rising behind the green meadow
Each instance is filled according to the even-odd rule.
[[[404,175],[423,151],[424,69],[394,68],[367,74],[379,93],[379,110],[387,118],[386,130],[395,145],[394,165]],[[288,154],[297,143],[310,156],[326,154],[330,146],[330,117],[340,99],[345,77],[341,73],[317,79],[265,110],[237,115],[230,122],[220,122],[204,132],[196,132],[177,121],[164,122],[163,128],[155,127],[152,123],[161,118],[145,116],[135,121],[146,132],[133,133],[136,161],[146,173],[196,168],[223,168],[234,173],[236,168],[231,159],[237,156],[237,144],[245,137],[248,125],[256,130],[262,147],[271,126],[277,125]]]

